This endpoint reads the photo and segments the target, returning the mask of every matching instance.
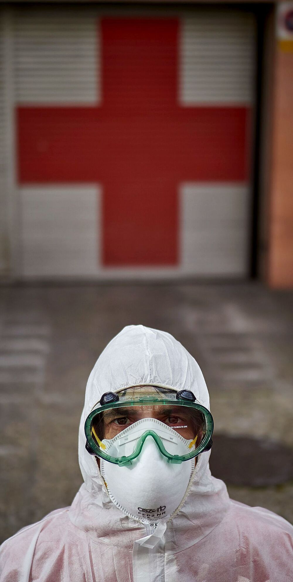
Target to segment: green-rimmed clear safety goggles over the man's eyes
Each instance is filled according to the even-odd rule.
[[[140,455],[148,437],[169,463],[192,459],[213,443],[212,414],[196,402],[194,394],[159,386],[134,386],[103,394],[88,415],[84,430],[87,451],[120,466],[131,464]],[[176,443],[180,446],[174,446]],[[177,454],[177,449],[182,454]]]

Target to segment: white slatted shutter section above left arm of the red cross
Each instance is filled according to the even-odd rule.
[[[88,10],[15,13],[15,98],[19,104],[100,100],[99,31]]]

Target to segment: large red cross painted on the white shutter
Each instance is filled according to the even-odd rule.
[[[247,179],[248,109],[179,104],[177,19],[99,26],[101,104],[19,107],[19,182],[101,183],[103,264],[175,265],[180,183]]]

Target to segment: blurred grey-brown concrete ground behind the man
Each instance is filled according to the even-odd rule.
[[[127,324],[198,360],[215,417],[211,468],[230,495],[293,521],[293,292],[259,283],[0,289],[0,538],[69,505],[88,375]]]

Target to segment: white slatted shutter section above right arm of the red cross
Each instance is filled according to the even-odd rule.
[[[183,17],[180,100],[185,105],[249,104],[253,98],[253,16],[202,10]]]

